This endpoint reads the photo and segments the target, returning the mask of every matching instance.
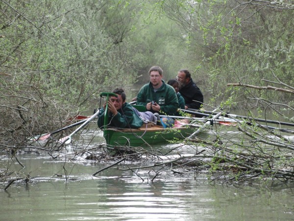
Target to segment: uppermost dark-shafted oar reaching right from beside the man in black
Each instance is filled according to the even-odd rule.
[[[199,115],[202,115],[202,116],[210,116],[211,114],[215,114],[213,111],[201,111],[201,110],[191,111],[191,110],[184,110],[184,109],[179,109],[179,110],[183,111],[183,112],[199,114]],[[206,113],[203,113],[203,112],[206,112]],[[229,117],[232,117],[232,118],[242,118],[242,119],[245,119],[245,120],[254,120],[254,121],[271,123],[271,124],[294,126],[294,123],[281,122],[281,121],[275,121],[275,120],[267,120],[267,119],[261,119],[261,118],[255,118],[255,117],[247,117],[247,116],[241,116],[241,115],[230,114],[230,113],[226,113],[225,116],[226,117],[229,116]]]

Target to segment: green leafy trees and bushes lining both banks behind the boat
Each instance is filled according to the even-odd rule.
[[[179,69],[189,69],[204,94],[206,110],[242,108],[248,116],[257,110],[265,119],[270,112],[294,122],[290,0],[0,0],[0,18],[4,152],[27,147],[29,138],[54,131],[97,107],[102,91],[147,83],[153,65],[163,68],[166,81]],[[255,129],[260,130],[246,127],[242,133],[250,133],[246,140],[254,148],[263,148],[261,140],[275,131],[260,134]],[[246,160],[271,168],[283,165],[275,157],[270,158],[274,162],[267,159],[280,145],[291,153],[288,146],[293,141],[276,136],[268,142],[278,150],[258,161]],[[242,142],[226,145],[243,146]],[[212,146],[221,148],[218,153],[224,151],[223,145],[216,145]],[[240,157],[229,152],[235,157],[218,156],[214,162]],[[245,161],[244,156],[241,159]],[[287,162],[285,168],[291,167],[291,159],[280,159]]]

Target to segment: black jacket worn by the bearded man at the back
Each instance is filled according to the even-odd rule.
[[[200,106],[203,103],[203,95],[196,86],[196,83],[193,82],[192,78],[187,85],[183,86],[179,92],[185,100],[185,106],[190,109],[200,109]]]

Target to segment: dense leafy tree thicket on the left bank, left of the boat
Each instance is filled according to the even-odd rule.
[[[1,0],[0,13],[1,138],[22,142],[61,126],[100,91],[133,82],[131,72],[121,74],[128,65],[103,31],[98,7]]]

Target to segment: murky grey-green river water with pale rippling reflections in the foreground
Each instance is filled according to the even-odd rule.
[[[32,178],[27,184],[16,181],[6,191],[3,189],[7,183],[1,184],[1,221],[294,220],[294,183],[221,184],[209,182],[205,175],[193,171],[173,174],[169,168],[152,182],[154,171],[150,168],[138,170],[140,177],[122,170],[145,166],[130,162],[93,176],[109,164],[70,159],[78,149],[104,142],[96,123],[91,125],[93,128],[84,132],[77,146],[67,146],[67,158],[23,153],[18,155],[23,168],[11,160],[11,155],[1,154],[0,168],[15,171],[11,177],[25,177],[29,173]],[[181,153],[189,153],[189,148],[183,146]]]

